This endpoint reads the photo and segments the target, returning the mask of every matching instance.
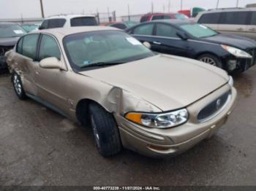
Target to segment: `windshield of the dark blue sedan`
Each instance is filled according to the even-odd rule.
[[[217,35],[217,31],[212,30],[211,28],[208,28],[207,26],[203,26],[201,24],[186,24],[181,26],[187,33],[191,34],[192,36],[195,36],[197,38],[205,38],[208,36],[215,36]]]

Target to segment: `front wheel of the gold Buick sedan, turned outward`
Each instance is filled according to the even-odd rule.
[[[103,157],[109,157],[120,152],[121,141],[113,114],[97,104],[89,105],[89,114],[99,153]]]

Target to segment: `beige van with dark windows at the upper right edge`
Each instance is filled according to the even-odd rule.
[[[222,34],[237,34],[256,39],[256,8],[214,9],[200,12],[196,22]]]

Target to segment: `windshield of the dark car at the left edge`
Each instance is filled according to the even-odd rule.
[[[0,38],[23,36],[26,31],[18,25],[0,24]]]

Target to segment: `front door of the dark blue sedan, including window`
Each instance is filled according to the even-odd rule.
[[[165,23],[157,23],[151,49],[170,55],[189,57],[188,41],[177,36],[178,29]]]

